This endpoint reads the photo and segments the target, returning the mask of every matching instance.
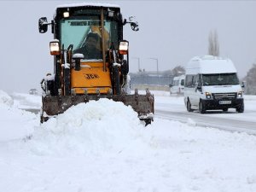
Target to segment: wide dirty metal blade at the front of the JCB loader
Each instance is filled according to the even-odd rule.
[[[83,102],[99,100],[101,98],[112,99],[114,102],[123,102],[131,106],[137,112],[138,118],[144,120],[146,125],[154,120],[154,95],[146,90],[146,95],[139,95],[137,90],[133,95],[82,95],[82,96],[42,96],[41,123],[55,115],[64,113],[67,108]]]

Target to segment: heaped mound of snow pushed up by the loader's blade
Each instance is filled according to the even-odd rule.
[[[131,107],[100,99],[80,103],[49,119],[28,143],[32,152],[40,155],[122,153],[145,146],[143,130]]]

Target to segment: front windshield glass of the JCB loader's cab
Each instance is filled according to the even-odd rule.
[[[114,20],[104,20],[104,39],[105,50],[109,49],[110,44],[114,44],[114,47],[118,46],[118,23]],[[102,27],[100,16],[76,16],[75,18],[61,19],[60,21],[60,34],[61,44],[64,44],[64,49],[70,44],[73,44],[73,51],[81,49],[86,44],[86,38],[90,33],[94,33],[98,36],[95,49],[102,51]],[[84,54],[84,53],[82,53]],[[96,58],[90,58],[96,59]]]

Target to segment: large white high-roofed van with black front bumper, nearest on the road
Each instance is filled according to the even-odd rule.
[[[244,103],[236,67],[230,59],[205,55],[192,58],[186,67],[184,102],[189,112],[236,108],[243,113]]]

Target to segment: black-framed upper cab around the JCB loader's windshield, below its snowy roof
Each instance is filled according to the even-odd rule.
[[[122,15],[119,7],[59,7],[56,9],[54,32],[63,46],[61,49],[73,44],[73,53],[84,54],[81,50],[85,49],[88,36],[94,34],[97,36],[96,50],[102,52],[104,46],[106,52],[111,44],[118,48],[119,41],[123,39]],[[85,59],[88,58],[85,56]]]

